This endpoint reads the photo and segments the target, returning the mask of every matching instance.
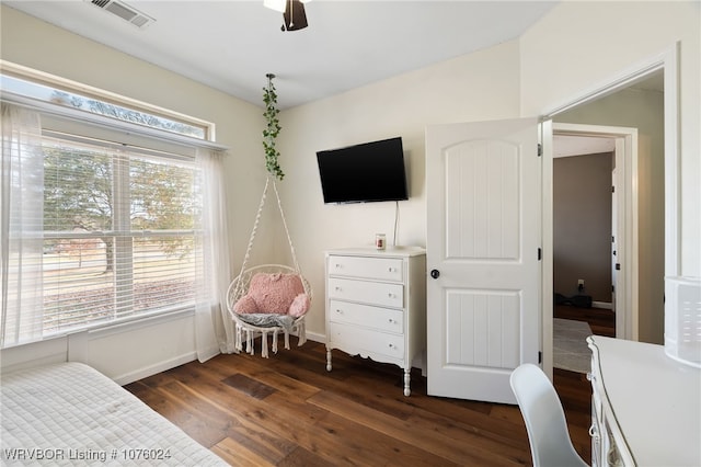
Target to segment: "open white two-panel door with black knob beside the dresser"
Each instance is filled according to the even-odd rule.
[[[536,118],[426,129],[432,396],[515,403],[539,361],[541,159]]]

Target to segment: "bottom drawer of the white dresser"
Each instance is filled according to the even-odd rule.
[[[393,360],[404,360],[404,337],[378,332],[371,329],[349,324],[330,323],[329,337],[331,344],[337,344],[350,352],[366,351],[387,355]]]

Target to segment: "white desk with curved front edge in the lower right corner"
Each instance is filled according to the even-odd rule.
[[[591,465],[700,466],[701,369],[663,345],[591,335]]]

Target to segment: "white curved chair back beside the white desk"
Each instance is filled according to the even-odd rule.
[[[533,466],[586,466],[572,445],[562,403],[548,376],[525,363],[514,369],[510,383],[526,422]]]

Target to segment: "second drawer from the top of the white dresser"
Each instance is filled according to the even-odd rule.
[[[404,306],[404,286],[402,284],[330,277],[329,298],[402,308]]]

